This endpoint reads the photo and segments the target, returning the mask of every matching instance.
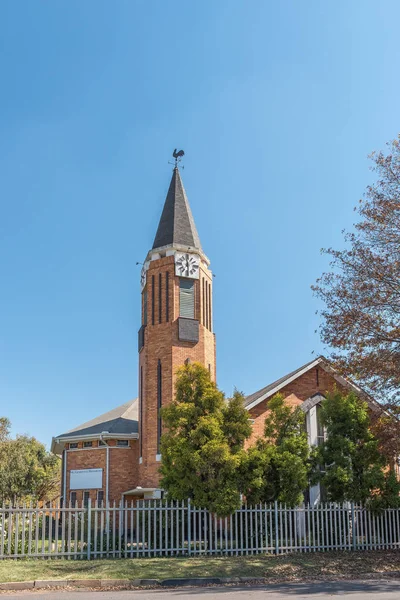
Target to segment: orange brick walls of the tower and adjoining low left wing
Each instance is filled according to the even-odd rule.
[[[168,274],[168,284],[167,284]],[[215,336],[212,332],[212,275],[205,261],[201,262],[199,279],[194,280],[194,319],[199,325],[196,343],[179,340],[180,278],[175,276],[174,256],[150,261],[147,283],[142,292],[142,324],[144,343],[139,352],[139,439],[129,441],[129,448],[116,447],[116,440],[107,440],[109,449],[92,441],[84,448],[66,445],[65,497],[71,498],[70,471],[74,469],[103,469],[101,490],[110,502],[119,501],[122,494],[137,487],[157,488],[159,485],[159,402],[165,406],[174,395],[176,372],[185,361],[200,362],[216,378]],[[154,287],[153,287],[154,286]],[[161,286],[161,287],[160,287]],[[147,293],[147,314],[144,314],[144,294]],[[154,298],[154,299],[153,299]],[[159,390],[159,368],[161,388]],[[161,392],[161,398],[160,398]],[[109,461],[107,467],[107,452]],[[65,456],[65,454],[64,454]],[[108,486],[106,485],[108,472]],[[99,488],[100,489],[100,488]],[[78,502],[83,491],[76,491]],[[98,490],[89,496],[96,500]]]

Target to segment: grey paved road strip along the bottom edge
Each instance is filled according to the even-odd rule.
[[[198,587],[123,592],[20,592],[1,594],[13,600],[399,600],[400,580],[301,583],[257,587]]]

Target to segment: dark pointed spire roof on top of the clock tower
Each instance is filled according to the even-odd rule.
[[[201,250],[199,234],[177,167],[172,174],[153,248],[174,244]]]

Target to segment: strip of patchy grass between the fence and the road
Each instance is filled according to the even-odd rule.
[[[400,551],[321,552],[281,556],[99,559],[5,559],[0,582],[32,579],[254,577],[268,581],[363,578],[400,571]]]

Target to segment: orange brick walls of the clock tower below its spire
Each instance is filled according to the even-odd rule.
[[[169,321],[166,321],[165,274],[169,273]],[[162,281],[161,323],[159,322],[159,275]],[[154,325],[152,324],[152,278],[154,276]],[[203,279],[207,282],[212,298],[212,275],[204,264],[200,267],[200,279],[195,281],[195,318],[199,321],[199,341],[183,342],[178,338],[179,317],[179,278],[175,277],[173,256],[163,257],[150,263],[147,271],[147,326],[144,334],[144,347],[139,353],[140,369],[143,370],[143,411],[142,421],[142,464],[139,466],[139,481],[142,487],[157,487],[159,482],[160,463],[157,455],[157,364],[162,367],[162,405],[171,402],[174,395],[176,371],[187,359],[200,362],[210,369],[211,376],[216,378],[215,336],[209,327],[209,316],[203,310]],[[212,302],[211,302],[212,304]],[[142,303],[143,306],[143,303]],[[212,306],[210,308],[212,312]],[[210,311],[208,315],[210,314]],[[142,314],[143,318],[143,314]],[[140,416],[139,416],[140,427]]]

